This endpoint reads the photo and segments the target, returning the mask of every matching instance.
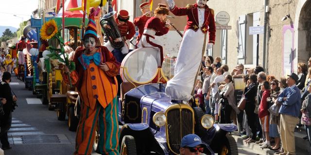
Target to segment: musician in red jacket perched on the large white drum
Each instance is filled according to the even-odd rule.
[[[152,47],[160,52],[160,62],[157,62],[159,68],[163,62],[163,47],[158,40],[155,40],[155,35],[162,36],[169,32],[171,21],[166,19],[167,15],[169,15],[167,6],[165,4],[158,4],[158,7],[155,9],[155,16],[147,20],[141,37],[142,47]]]

